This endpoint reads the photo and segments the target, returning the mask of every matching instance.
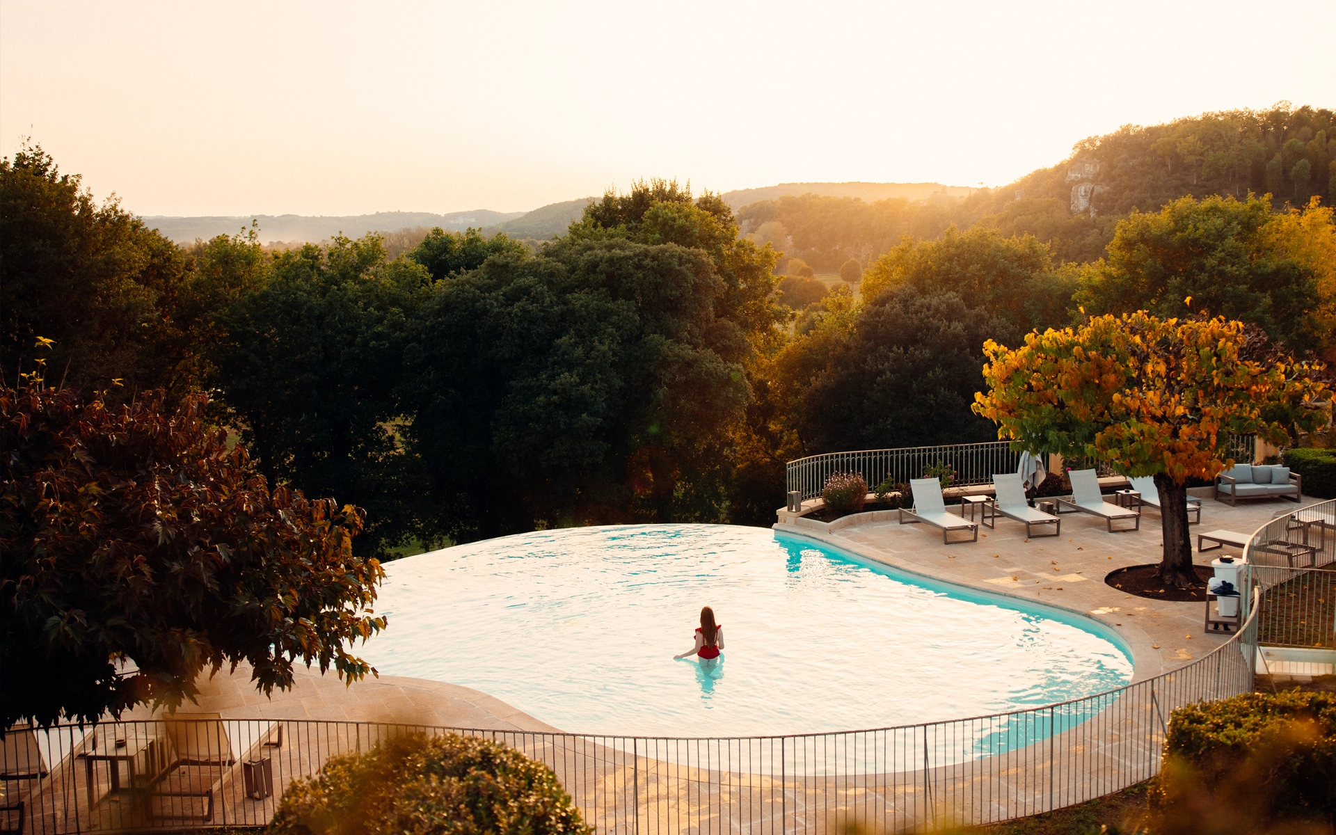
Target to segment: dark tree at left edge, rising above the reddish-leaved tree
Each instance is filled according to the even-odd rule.
[[[39,146],[0,160],[0,367],[32,367],[36,338],[55,339],[49,366],[67,382],[179,394],[188,342],[176,305],[187,274],[179,248],[115,202],[94,203],[77,175]]]

